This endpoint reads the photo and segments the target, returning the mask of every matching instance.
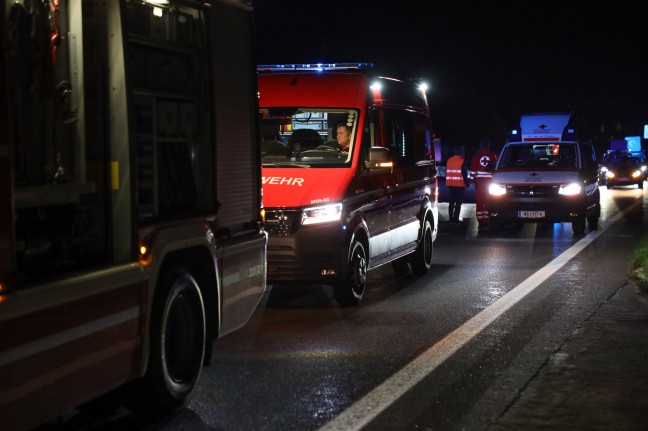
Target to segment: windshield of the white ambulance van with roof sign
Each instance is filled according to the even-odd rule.
[[[504,149],[497,168],[578,168],[576,154],[573,143],[511,144]]]

